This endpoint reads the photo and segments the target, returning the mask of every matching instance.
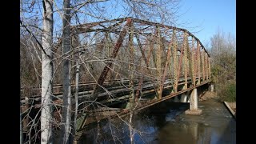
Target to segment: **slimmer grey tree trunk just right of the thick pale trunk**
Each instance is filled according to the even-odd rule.
[[[70,0],[63,2],[64,16],[63,22],[63,41],[62,41],[62,55],[70,51]],[[66,55],[64,56],[66,58]],[[70,137],[70,123],[71,123],[71,87],[70,87],[70,60],[68,58],[63,61],[62,69],[63,77],[63,108],[62,108],[62,130],[61,143],[68,143]]]

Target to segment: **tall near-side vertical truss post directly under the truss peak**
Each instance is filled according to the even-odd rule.
[[[130,27],[129,30],[129,72],[130,72],[130,81],[129,81],[129,87],[130,87],[130,104],[131,106],[134,105],[134,26]]]

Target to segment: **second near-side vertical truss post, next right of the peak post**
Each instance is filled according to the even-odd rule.
[[[161,79],[162,79],[162,67],[161,67],[161,54],[162,54],[162,50],[161,50],[161,34],[160,34],[160,28],[159,26],[156,27],[157,28],[157,78],[158,78],[158,98],[161,99],[162,98],[162,93],[161,93]]]

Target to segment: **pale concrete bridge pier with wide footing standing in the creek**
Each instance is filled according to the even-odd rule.
[[[190,94],[190,110],[186,110],[185,114],[200,115],[202,110],[198,109],[198,90],[194,88]]]

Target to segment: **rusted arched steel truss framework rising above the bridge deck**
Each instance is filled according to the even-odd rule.
[[[118,18],[71,26],[71,31],[70,60],[81,65],[80,103],[98,98],[95,102],[110,106],[145,98],[153,99],[145,104],[151,106],[154,100],[160,102],[211,81],[210,55],[185,29]],[[41,87],[28,89],[33,96],[29,99],[40,105]],[[55,84],[53,91],[56,102],[62,99],[61,84]],[[22,103],[30,107],[24,97]]]

